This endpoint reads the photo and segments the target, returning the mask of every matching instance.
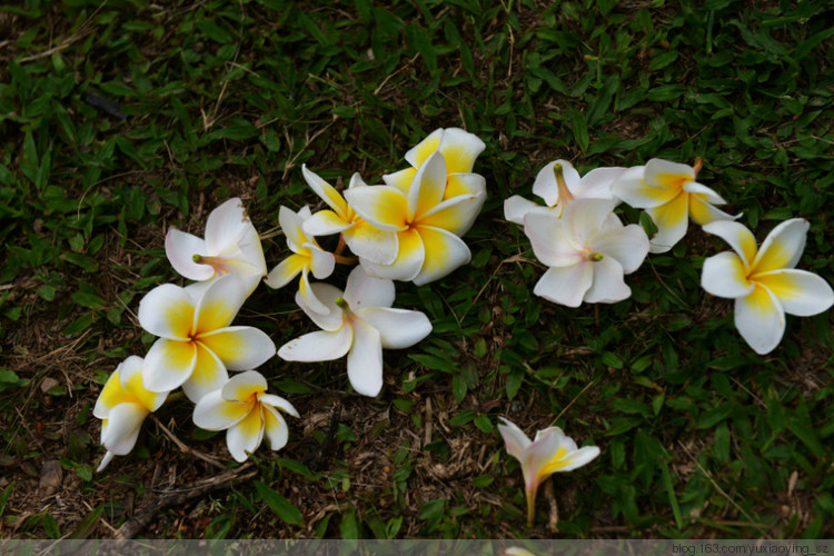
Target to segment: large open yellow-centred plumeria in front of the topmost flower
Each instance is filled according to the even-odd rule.
[[[445,189],[446,160],[436,151],[416,171],[407,192],[393,186],[345,191],[365,221],[397,232],[397,258],[390,265],[360,259],[368,272],[421,286],[469,262],[471,254],[459,236],[475,221],[484,197],[471,193],[444,200]]]

